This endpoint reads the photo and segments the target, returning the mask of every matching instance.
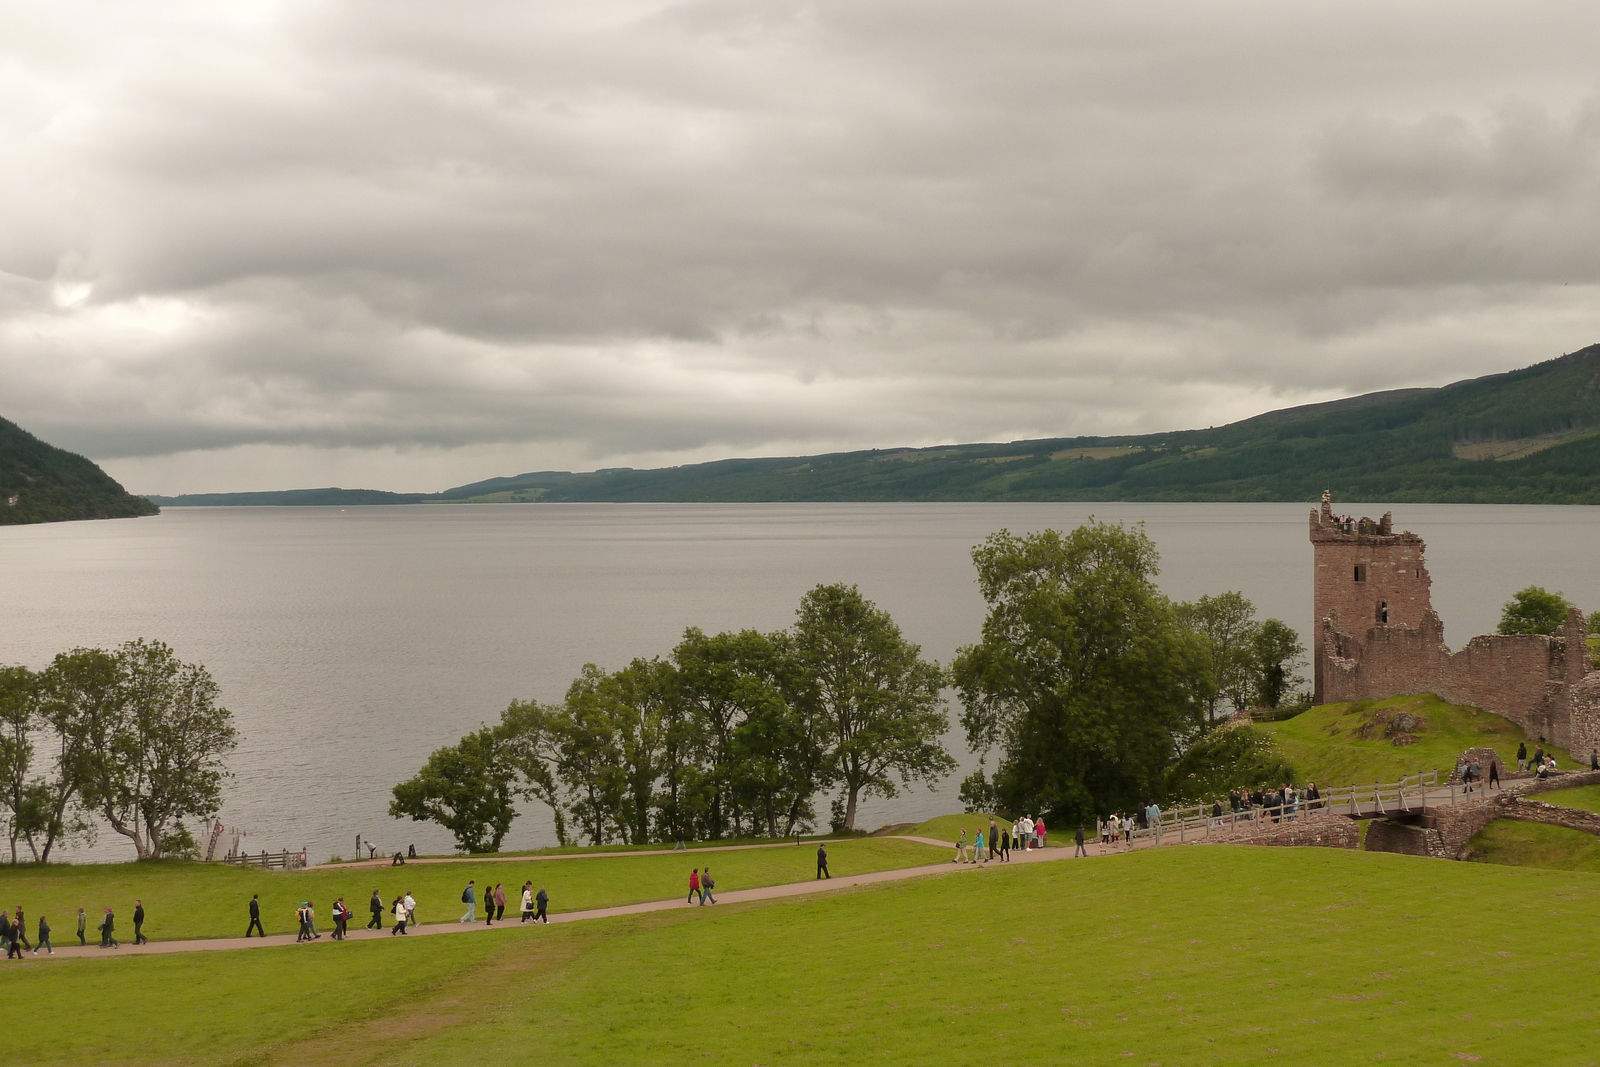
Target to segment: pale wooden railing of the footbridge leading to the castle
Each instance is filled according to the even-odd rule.
[[[1437,769],[1422,771],[1419,774],[1408,774],[1397,782],[1318,787],[1315,800],[1301,793],[1294,803],[1270,808],[1245,806],[1232,811],[1227,805],[1219,803],[1221,813],[1213,814],[1210,803],[1186,805],[1163,811],[1158,825],[1139,825],[1133,832],[1133,840],[1158,845],[1198,841],[1213,833],[1226,833],[1240,827],[1248,829],[1262,822],[1296,822],[1318,814],[1357,816],[1418,811],[1421,808],[1454,805],[1464,797],[1462,787],[1450,781],[1448,776],[1440,774]]]

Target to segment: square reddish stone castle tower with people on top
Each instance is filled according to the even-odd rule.
[[[1315,561],[1312,632],[1315,699],[1326,699],[1328,651],[1322,640],[1323,621],[1346,633],[1366,633],[1374,625],[1421,629],[1434,606],[1429,600],[1424,544],[1411,531],[1395,533],[1389,512],[1378,522],[1333,514],[1333,496],[1322,494],[1322,507],[1310,514],[1310,545]]]

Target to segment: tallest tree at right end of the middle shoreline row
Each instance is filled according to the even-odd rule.
[[[802,704],[827,739],[826,777],[843,784],[845,829],[862,795],[894,797],[896,777],[931,782],[955,769],[939,742],[944,670],[854,585],[818,585],[800,600],[794,649]]]

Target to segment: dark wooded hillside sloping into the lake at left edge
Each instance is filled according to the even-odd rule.
[[[133,518],[157,510],[83,456],[0,419],[0,526]]]

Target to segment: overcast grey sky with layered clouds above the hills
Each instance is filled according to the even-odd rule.
[[[1210,426],[1600,341],[1600,5],[0,0],[0,416],[144,493]]]

